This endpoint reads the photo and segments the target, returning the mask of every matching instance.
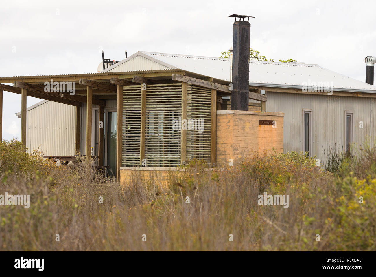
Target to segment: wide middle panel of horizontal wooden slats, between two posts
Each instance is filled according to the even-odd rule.
[[[153,84],[146,89],[145,159],[148,167],[180,165],[181,130],[173,128],[182,110],[181,84]]]

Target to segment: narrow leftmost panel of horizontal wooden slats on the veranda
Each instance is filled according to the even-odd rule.
[[[141,85],[123,86],[123,166],[140,163]]]

